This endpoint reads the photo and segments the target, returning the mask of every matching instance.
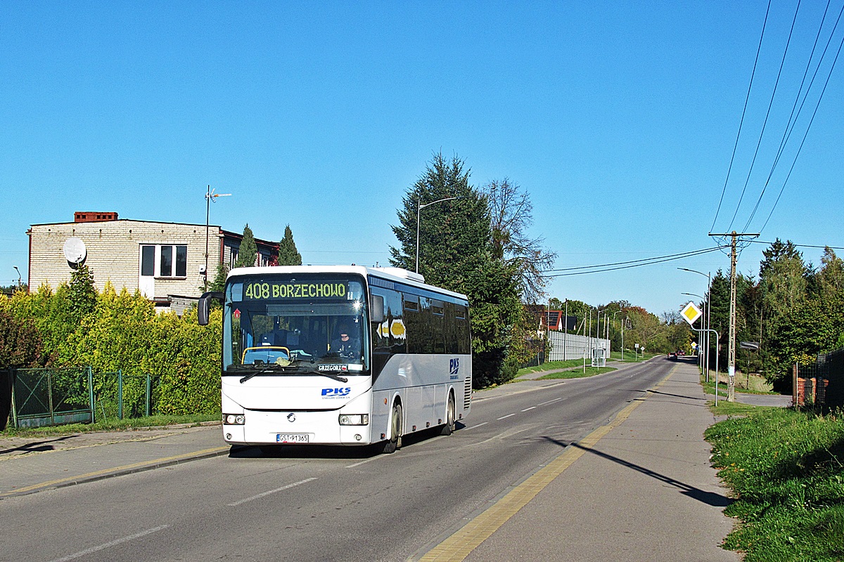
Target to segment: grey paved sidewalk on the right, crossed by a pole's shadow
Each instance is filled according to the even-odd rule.
[[[560,443],[560,457],[463,527],[490,527],[483,542],[458,531],[441,543],[439,556],[431,551],[423,559],[739,560],[719,546],[733,520],[722,514],[727,490],[703,439],[714,421],[697,368],[678,363],[645,399],[582,441]],[[509,518],[494,514],[483,522],[520,493],[532,499]]]

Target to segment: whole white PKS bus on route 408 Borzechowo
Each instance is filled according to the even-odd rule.
[[[381,443],[439,426],[450,434],[472,399],[465,295],[398,268],[231,270],[223,301],[226,442]]]

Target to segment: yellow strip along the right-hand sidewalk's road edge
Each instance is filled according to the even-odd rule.
[[[668,375],[651,390],[662,387],[676,370],[677,367],[671,369]],[[446,540],[436,545],[436,547],[430,549],[419,558],[420,562],[460,562],[465,559],[473,549],[477,548],[487,538],[490,538],[492,533],[495,533],[501,525],[516,515],[517,511],[527,506],[527,502],[533,500],[545,486],[560,476],[578,458],[581,458],[583,453],[595,447],[603,436],[621,425],[630,416],[630,413],[641,404],[642,400],[644,398],[636,399],[625,406],[609,424],[598,427],[598,429],[592,431],[582,441],[578,442],[578,447],[565,447],[565,450],[557,458],[546,464],[543,468],[540,468],[536,473],[522,482],[522,484],[518,484],[503,498],[496,501],[493,506],[490,506],[478,517],[475,517],[472,521],[461,527],[451,537],[446,538]]]

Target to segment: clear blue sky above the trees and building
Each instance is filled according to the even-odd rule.
[[[796,7],[772,0],[715,220],[766,6],[5,2],[0,284],[17,280],[13,266],[26,281],[30,224],[73,211],[201,224],[207,185],[232,194],[213,224],[274,240],[289,224],[306,263],[386,265],[403,195],[437,151],[463,158],[473,185],[527,190],[531,234],[558,268],[711,247],[713,222],[742,230],[759,198],[826,3],[801,5],[738,206]],[[830,2],[815,61],[840,9]],[[844,21],[750,231],[774,206],[842,34]],[[761,240],[844,246],[842,67]],[[765,248],[744,249],[739,270],[757,274]],[[803,249],[815,265],[821,253]],[[677,267],[728,265],[715,252],[560,277],[549,293],[658,314],[706,291]]]

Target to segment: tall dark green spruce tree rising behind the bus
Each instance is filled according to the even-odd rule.
[[[425,207],[418,215],[420,205]],[[506,361],[522,316],[518,268],[496,254],[489,199],[469,183],[463,160],[434,153],[408,188],[392,226],[398,246],[390,248],[391,265],[416,268],[417,217],[419,273],[432,285],[468,296],[475,388],[506,382],[517,367]]]

